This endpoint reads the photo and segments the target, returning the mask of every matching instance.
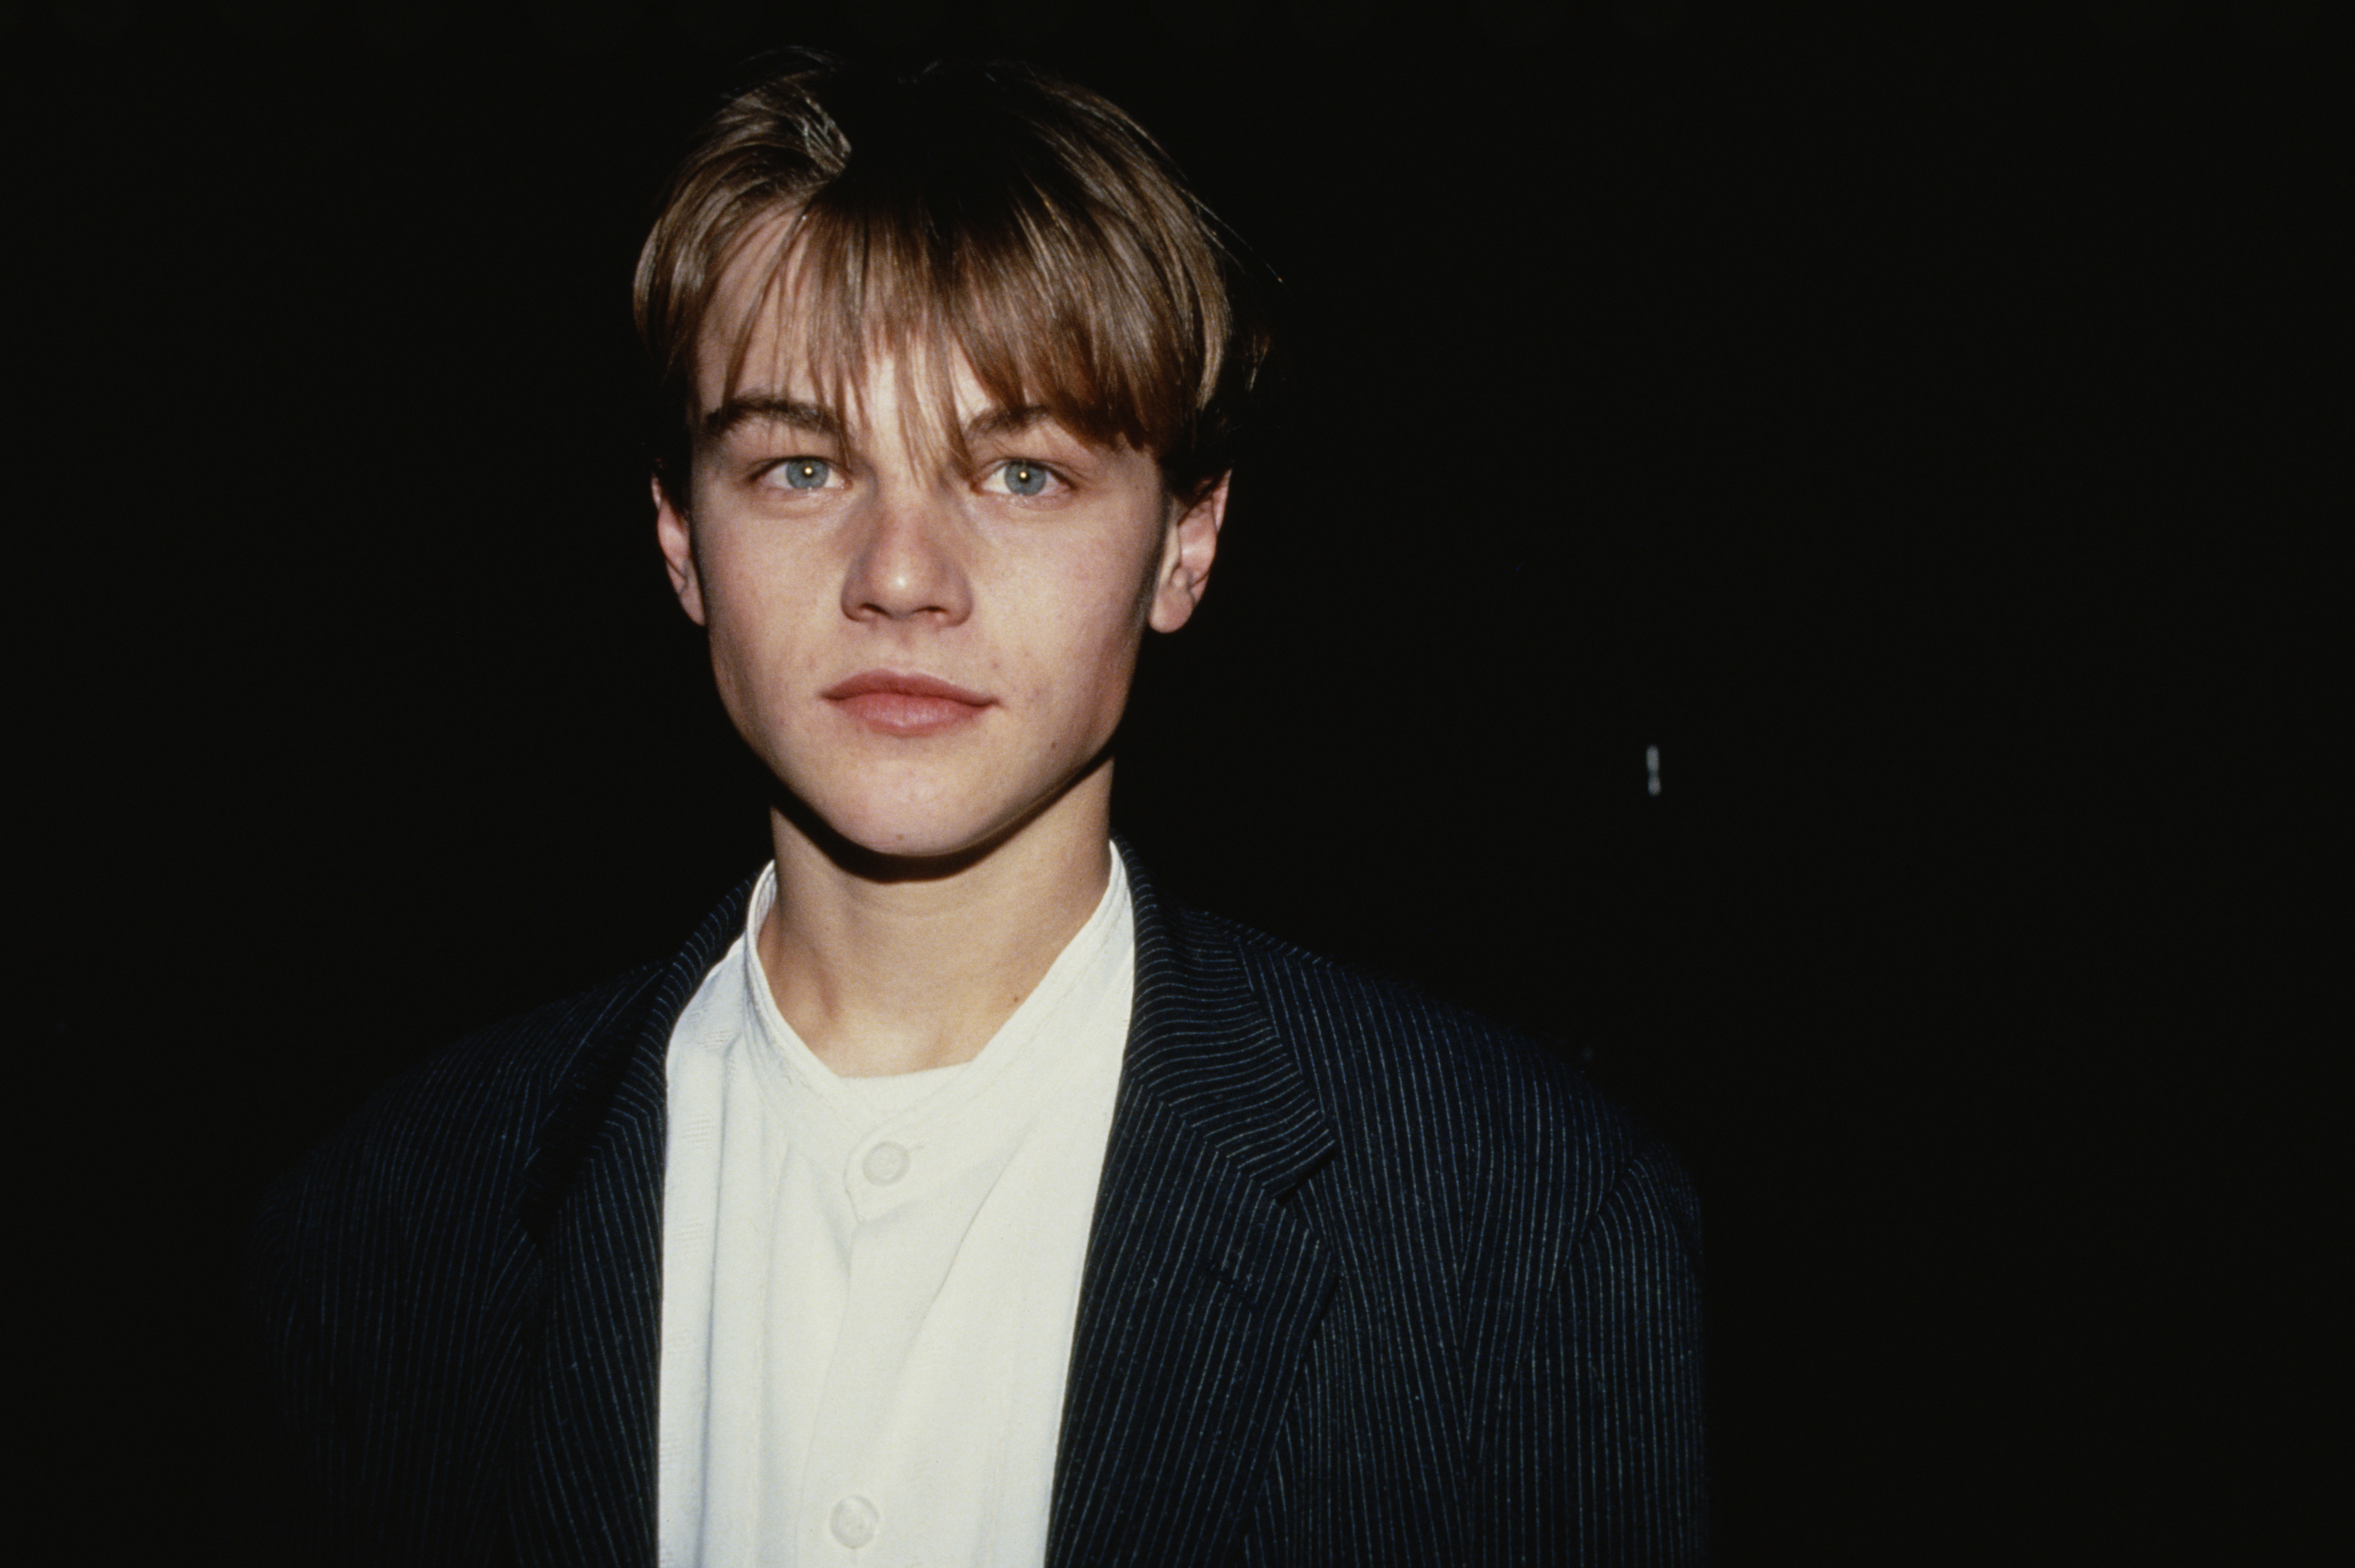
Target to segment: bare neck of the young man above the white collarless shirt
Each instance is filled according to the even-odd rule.
[[[784,1022],[843,1078],[977,1057],[1104,897],[1109,775],[940,876],[848,869],[772,815],[777,899],[758,944]]]

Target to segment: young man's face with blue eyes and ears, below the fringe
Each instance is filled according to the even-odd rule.
[[[655,492],[671,582],[711,631],[737,730],[878,855],[982,848],[1076,798],[1102,810],[1137,643],[1194,612],[1225,487],[1175,506],[1147,452],[994,407],[961,358],[963,457],[909,440],[890,363],[871,365],[857,424],[836,428],[775,351],[770,313],[728,396],[716,346],[749,292],[725,280],[711,311],[697,391],[706,414],[728,410],[699,443],[692,494],[681,509]]]

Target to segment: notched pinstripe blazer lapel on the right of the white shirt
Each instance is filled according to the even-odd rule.
[[[1283,1196],[1333,1128],[1239,961],[1126,852],[1128,1055],[1079,1293],[1046,1561],[1222,1561],[1335,1269]]]

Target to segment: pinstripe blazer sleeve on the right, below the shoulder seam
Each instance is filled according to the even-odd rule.
[[[1705,1561],[1700,1229],[1674,1156],[1620,1165],[1533,1328],[1481,1467],[1495,1561]]]

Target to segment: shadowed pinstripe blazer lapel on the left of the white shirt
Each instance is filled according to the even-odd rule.
[[[539,1245],[546,1309],[509,1504],[518,1563],[655,1563],[669,1043],[742,928],[749,890],[721,902],[582,1052],[525,1175],[518,1208]]]

